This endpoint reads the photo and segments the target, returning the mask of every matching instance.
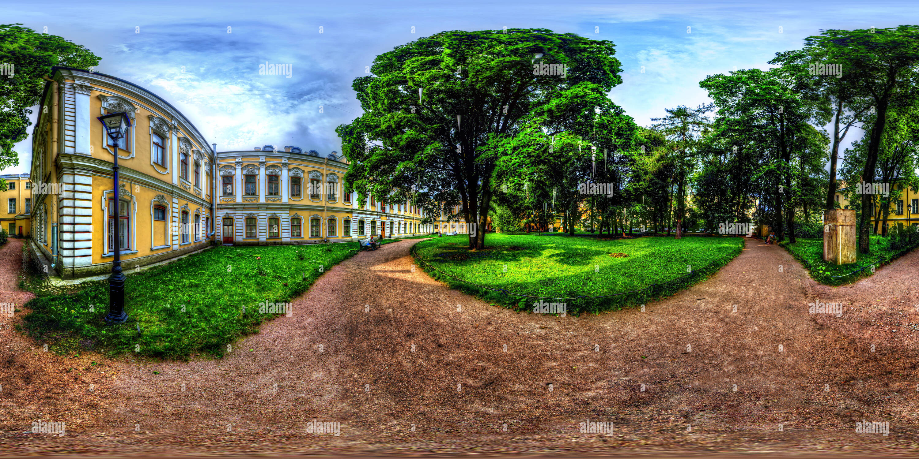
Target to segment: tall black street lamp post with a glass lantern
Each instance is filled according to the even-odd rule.
[[[106,321],[109,324],[124,323],[128,320],[128,314],[124,311],[124,274],[121,273],[121,201],[119,200],[118,191],[118,141],[122,139],[130,128],[130,118],[124,112],[112,113],[104,117],[98,117],[105,127],[108,137],[111,138],[115,147],[115,163],[112,165],[113,189],[115,201],[111,211],[115,215],[114,234],[112,235],[112,251],[115,252],[115,259],[112,261],[112,274],[108,276],[108,316]]]

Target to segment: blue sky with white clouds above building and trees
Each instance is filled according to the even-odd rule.
[[[549,28],[611,40],[623,84],[610,97],[648,126],[666,107],[709,102],[698,87],[708,74],[766,69],[821,28],[893,27],[919,22],[916,13],[914,1],[4,1],[0,23],[47,27],[93,50],[97,71],[162,96],[221,151],[268,143],[327,153],[340,151],[335,127],[360,113],[351,81],[365,66],[442,30]],[[259,75],[265,62],[290,64],[290,77]],[[28,172],[30,142],[3,173]]]

